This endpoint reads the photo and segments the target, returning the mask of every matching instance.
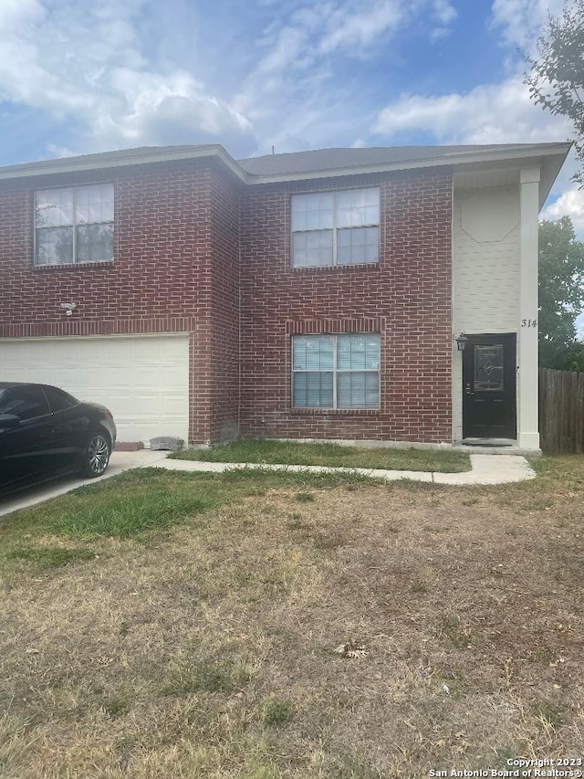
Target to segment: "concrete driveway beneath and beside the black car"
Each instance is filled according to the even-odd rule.
[[[53,481],[47,481],[46,484],[37,487],[27,487],[19,490],[6,498],[0,497],[0,516],[10,514],[12,511],[28,509],[30,506],[36,506],[37,503],[43,503],[45,500],[56,498],[57,495],[63,495],[65,492],[76,490],[82,484],[95,484],[103,479],[109,479],[121,473],[122,470],[130,468],[144,468],[155,463],[159,463],[166,458],[168,452],[152,452],[150,449],[141,449],[138,452],[114,452],[110,458],[110,466],[105,474],[99,479],[79,479],[76,476],[66,476]]]

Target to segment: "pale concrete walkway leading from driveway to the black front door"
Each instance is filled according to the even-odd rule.
[[[435,484],[506,484],[534,479],[535,471],[527,459],[519,455],[471,455],[472,470],[464,473],[429,473],[420,470],[383,470],[380,468],[328,468],[319,465],[269,465],[266,463],[203,462],[200,460],[162,459],[148,463],[154,468],[223,473],[225,470],[261,468],[265,470],[289,470],[305,473],[360,473],[376,479],[395,481],[412,479],[431,481]]]

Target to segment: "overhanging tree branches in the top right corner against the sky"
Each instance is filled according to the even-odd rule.
[[[537,59],[527,57],[529,94],[547,111],[572,122],[574,148],[584,166],[584,0],[568,0],[561,18],[549,16],[537,52]],[[583,166],[573,177],[580,186]]]

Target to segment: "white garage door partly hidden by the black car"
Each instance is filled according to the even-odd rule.
[[[54,384],[107,405],[119,441],[187,440],[186,335],[0,341],[0,381]]]

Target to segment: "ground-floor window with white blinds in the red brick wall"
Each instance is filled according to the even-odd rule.
[[[380,335],[295,335],[294,408],[379,408]]]

